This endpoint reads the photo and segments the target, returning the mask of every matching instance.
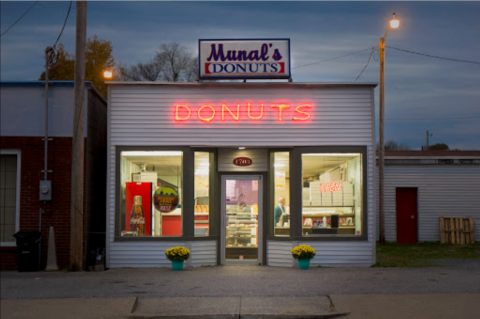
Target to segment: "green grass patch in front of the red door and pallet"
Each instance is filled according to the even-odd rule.
[[[376,267],[426,267],[435,259],[480,259],[480,243],[471,245],[440,244],[377,244]],[[431,262],[429,262],[429,260]]]

